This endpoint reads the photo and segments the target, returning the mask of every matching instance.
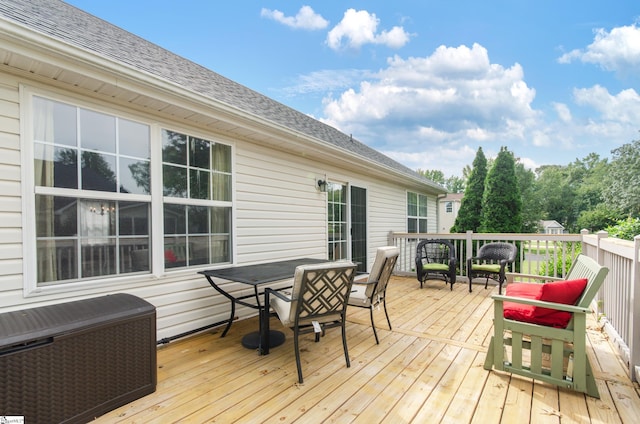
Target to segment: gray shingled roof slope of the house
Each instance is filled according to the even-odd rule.
[[[0,16],[356,153],[431,187],[440,188],[408,167],[329,125],[64,2],[0,0]]]

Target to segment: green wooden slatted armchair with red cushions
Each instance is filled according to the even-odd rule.
[[[608,272],[593,259],[579,255],[566,280],[513,274],[549,282],[509,284],[506,295],[493,296],[494,335],[484,368],[599,398],[586,352],[586,321]],[[511,346],[510,358],[507,346]]]

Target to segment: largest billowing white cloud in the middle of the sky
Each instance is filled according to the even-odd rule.
[[[479,44],[441,46],[428,57],[389,59],[375,78],[325,99],[327,122],[347,132],[376,134],[402,126],[414,142],[424,128],[458,137],[520,138],[522,124],[537,120],[531,108],[535,90],[520,65],[491,64]],[[421,132],[422,131],[422,132]],[[376,138],[379,138],[376,137]]]

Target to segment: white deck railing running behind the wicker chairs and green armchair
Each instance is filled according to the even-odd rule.
[[[400,248],[395,273],[416,275],[416,246],[425,239],[447,239],[456,249],[458,281],[467,283],[466,263],[478,248],[489,242],[518,246],[518,260],[510,272],[564,277],[573,259],[583,253],[609,268],[609,274],[592,307],[604,331],[618,347],[629,376],[640,375],[640,236],[634,241],[608,237],[604,231],[589,234],[428,234],[391,233],[389,243]],[[564,263],[564,265],[563,265]]]

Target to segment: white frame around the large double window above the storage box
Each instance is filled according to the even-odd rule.
[[[150,258],[150,273],[123,273],[116,275],[96,276],[95,278],[87,280],[77,281],[61,281],[60,283],[47,283],[47,285],[38,285],[37,283],[37,267],[36,264],[36,214],[35,208],[35,180],[34,180],[34,133],[33,133],[33,97],[42,97],[51,99],[53,101],[59,101],[67,103],[78,108],[85,108],[100,113],[105,113],[110,116],[122,118],[130,121],[143,123],[149,126],[150,139],[151,139],[151,151],[150,151],[150,175],[151,175],[151,194],[127,194],[126,198],[122,197],[121,193],[106,193],[101,191],[82,190],[77,189],[76,198],[87,199],[104,199],[113,198],[123,201],[144,201],[150,202],[150,250],[152,257]],[[148,117],[136,115],[131,111],[126,111],[117,107],[94,103],[87,99],[70,95],[68,93],[61,93],[57,91],[36,88],[33,86],[20,85],[19,87],[20,97],[20,146],[21,146],[21,177],[22,177],[22,241],[23,241],[23,294],[25,297],[46,295],[52,293],[63,293],[70,291],[82,291],[82,290],[96,290],[104,288],[106,286],[112,286],[117,284],[126,283],[127,287],[132,287],[131,284],[136,282],[148,282],[150,279],[156,279],[158,277],[167,275],[169,273],[178,274],[180,272],[192,274],[194,270],[198,268],[210,268],[214,264],[182,267],[182,268],[164,268],[164,228],[163,228],[163,196],[162,196],[162,146],[161,129],[169,129],[172,131],[183,132],[185,134],[193,135],[195,137],[201,137],[213,142],[219,142],[229,145],[231,148],[231,200],[225,202],[213,202],[213,201],[198,201],[206,206],[225,206],[231,210],[231,222],[230,222],[230,241],[229,248],[231,249],[229,263],[235,261],[236,252],[236,211],[235,211],[235,143],[232,140],[222,138],[219,136],[213,137],[211,134],[199,134],[193,129],[180,128],[175,125],[171,125],[166,122],[160,122],[155,119],[149,119]],[[39,191],[55,194],[61,189],[50,189],[42,187]],[[80,194],[81,193],[81,194]],[[105,196],[108,195],[108,196]],[[111,196],[113,195],[113,196]],[[192,203],[190,203],[192,204]],[[217,265],[217,264],[215,264]]]

